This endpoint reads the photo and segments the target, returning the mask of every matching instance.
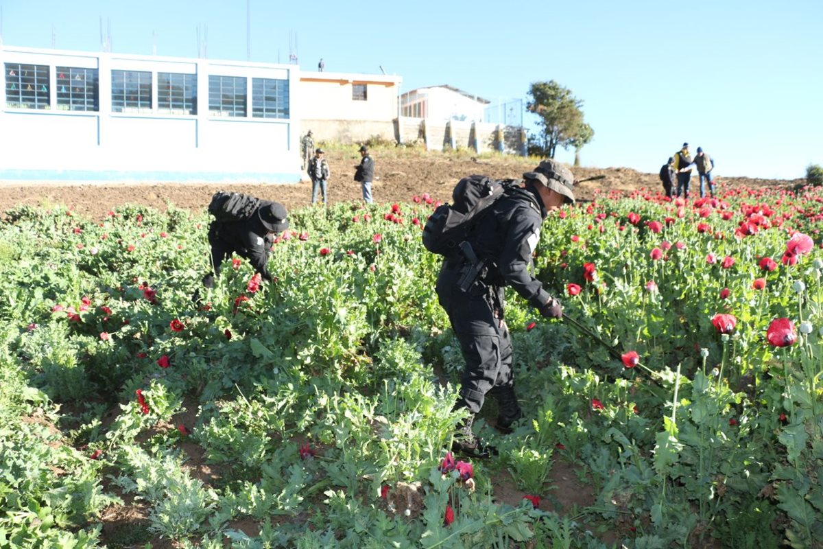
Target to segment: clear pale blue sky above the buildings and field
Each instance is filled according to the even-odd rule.
[[[529,4],[532,6],[529,7]],[[537,7],[540,6],[540,7]],[[244,0],[0,0],[4,44],[246,58]],[[518,10],[525,11],[518,11]],[[823,164],[823,2],[251,1],[252,61],[388,73],[403,91],[449,84],[523,99],[556,80],[584,101],[589,166],[657,172],[682,142],[716,173],[793,179]],[[527,115],[527,124],[533,124]],[[572,154],[559,154],[571,161]]]

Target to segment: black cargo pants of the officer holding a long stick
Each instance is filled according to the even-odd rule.
[[[456,407],[476,414],[491,388],[513,387],[512,344],[503,320],[503,288],[478,282],[463,292],[459,277],[459,263],[444,262],[436,290],[466,360]]]

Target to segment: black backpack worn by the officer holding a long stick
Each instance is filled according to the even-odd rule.
[[[492,204],[504,196],[514,180],[495,181],[486,175],[460,179],[452,192],[451,204],[439,206],[423,227],[423,245],[434,254],[455,255]]]

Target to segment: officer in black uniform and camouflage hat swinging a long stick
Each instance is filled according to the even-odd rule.
[[[455,408],[465,407],[472,414],[460,426],[453,450],[474,457],[488,457],[490,451],[472,433],[473,418],[483,407],[486,393],[491,392],[499,403],[500,430],[509,432],[509,427],[523,416],[514,393],[511,338],[504,322],[504,286],[514,287],[542,316],[562,316],[560,301],[542,288],[542,283],[528,272],[528,266],[548,212],[564,202],[574,202],[574,176],[559,162],[547,160],[523,174],[523,179],[522,188],[510,188],[492,204],[491,211],[483,214],[482,222],[467,239],[474,259],[486,265],[477,280],[467,291],[458,286],[472,262],[465,254],[447,258],[437,280],[440,305],[449,314],[466,360]]]

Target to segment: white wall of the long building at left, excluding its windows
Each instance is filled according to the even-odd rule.
[[[295,66],[0,48],[3,63],[49,65],[50,109],[7,107],[0,83],[0,179],[300,180]],[[57,66],[98,68],[100,111],[57,110]],[[150,71],[152,111],[111,111],[111,71]],[[196,115],[158,114],[157,72],[197,74]],[[5,71],[3,72],[5,75]],[[245,118],[209,114],[208,76],[247,78]],[[252,78],[289,81],[290,118],[252,117]]]

